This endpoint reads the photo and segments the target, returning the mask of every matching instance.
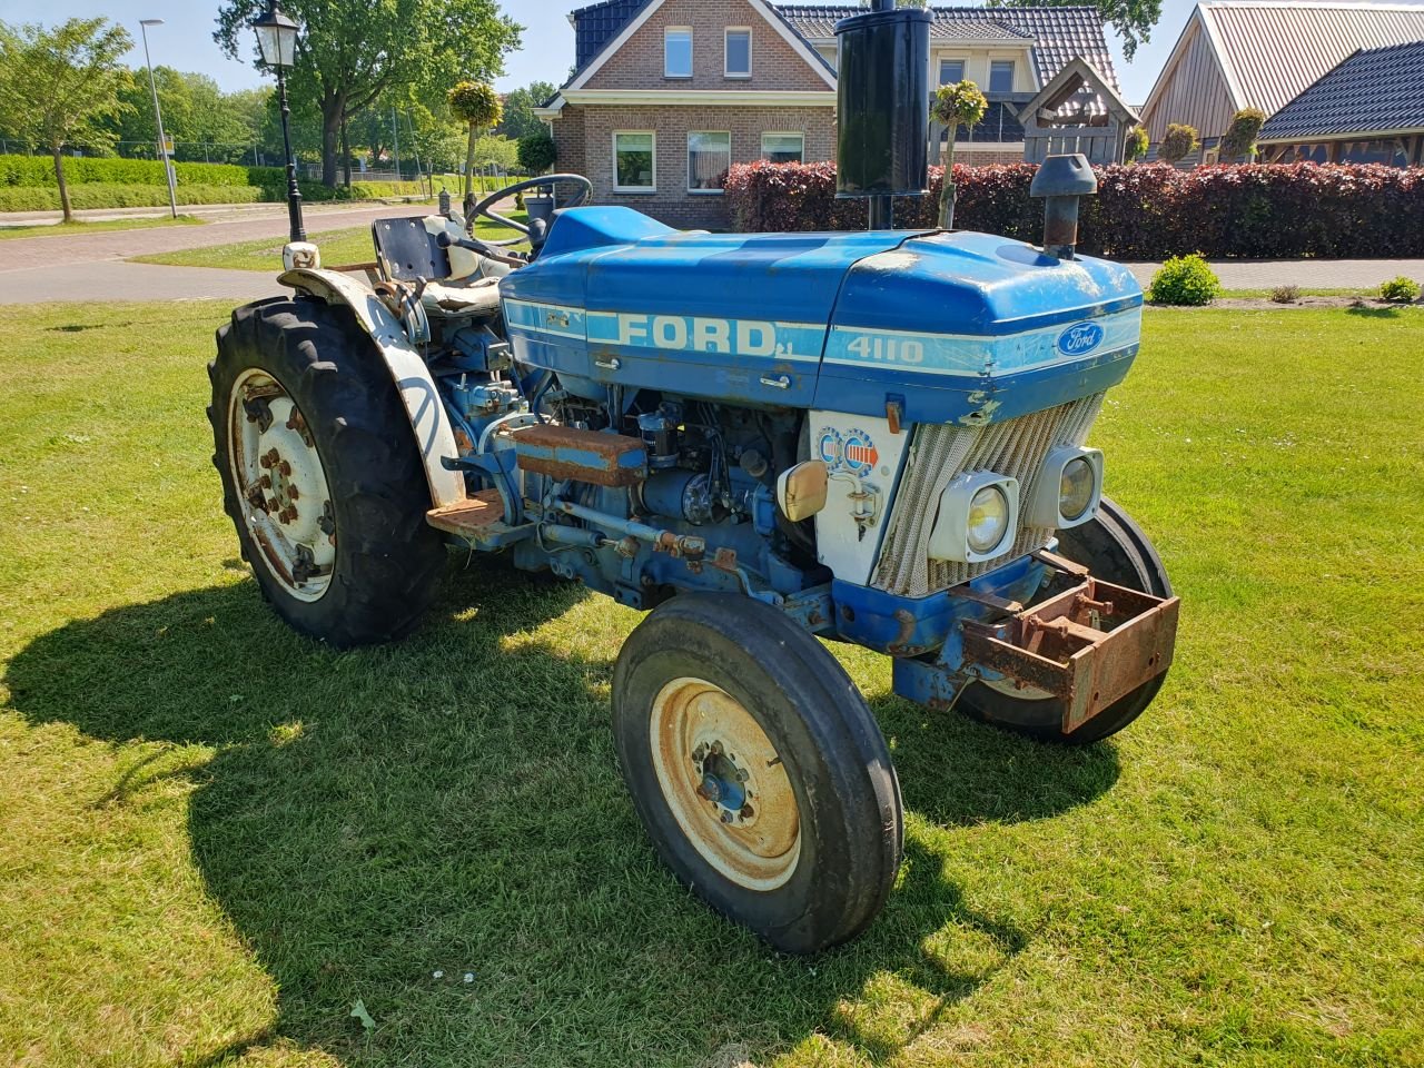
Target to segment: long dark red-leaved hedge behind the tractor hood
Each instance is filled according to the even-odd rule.
[[[954,168],[954,225],[1037,242],[1042,202],[1032,164]],[[930,195],[896,201],[896,225],[934,226],[943,169]],[[836,199],[836,165],[738,164],[726,178],[745,232],[864,229],[866,202]],[[1424,255],[1424,168],[1243,164],[1178,171],[1166,164],[1098,168],[1098,195],[1079,225],[1085,252],[1165,259]]]

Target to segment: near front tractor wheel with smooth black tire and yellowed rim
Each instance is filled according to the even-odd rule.
[[[782,611],[659,605],[618,655],[612,716],[654,846],[715,910],[797,954],[880,911],[904,840],[894,765],[850,676]]]

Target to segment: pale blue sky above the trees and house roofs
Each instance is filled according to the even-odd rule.
[[[496,87],[511,90],[531,81],[551,81],[555,85],[562,83],[574,61],[574,31],[568,24],[568,11],[590,1],[501,0],[500,7],[525,30],[523,50],[506,58],[506,74],[496,81]],[[1138,47],[1131,64],[1122,58],[1122,44],[1109,28],[1108,43],[1118,68],[1118,81],[1129,104],[1146,100],[1193,7],[1195,0],[1163,0],[1162,20],[1152,31],[1152,40]],[[34,0],[0,0],[0,20],[34,21]],[[53,24],[74,16],[103,14],[127,26],[134,40],[140,41],[138,20],[162,19],[164,26],[148,31],[155,64],[208,74],[225,90],[261,85],[262,74],[249,63],[226,58],[212,43],[216,10],[214,0],[46,0],[41,21]],[[142,61],[140,44],[128,63],[138,67]]]

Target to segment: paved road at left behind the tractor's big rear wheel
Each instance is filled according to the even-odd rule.
[[[155,229],[95,231],[0,242],[0,305],[50,300],[93,303],[95,300],[192,300],[231,298],[236,302],[283,292],[276,272],[216,271],[212,268],[125,263],[130,256],[174,252],[209,245],[272,238],[273,246],[286,239],[286,206],[279,212],[209,222],[204,226],[159,226]],[[363,208],[318,206],[305,214],[306,229],[360,226],[372,219],[410,215],[413,205]]]

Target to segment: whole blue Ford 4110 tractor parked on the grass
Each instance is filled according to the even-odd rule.
[[[847,23],[891,27],[913,66],[916,16]],[[474,239],[535,185],[565,206],[514,224],[528,253]],[[289,245],[295,293],[234,312],[211,366],[258,585],[336,646],[409,634],[450,547],[648,609],[612,725],[662,859],[778,948],[856,936],[890,893],[903,813],[823,639],[893,658],[911,701],[1067,743],[1134,721],[1172,659],[1178,601],[1087,444],[1142,293],[1072,249],[1081,157],[1037,185],[1042,248],[679,232],[584,206],[575,175],[376,222],[369,279]]]

